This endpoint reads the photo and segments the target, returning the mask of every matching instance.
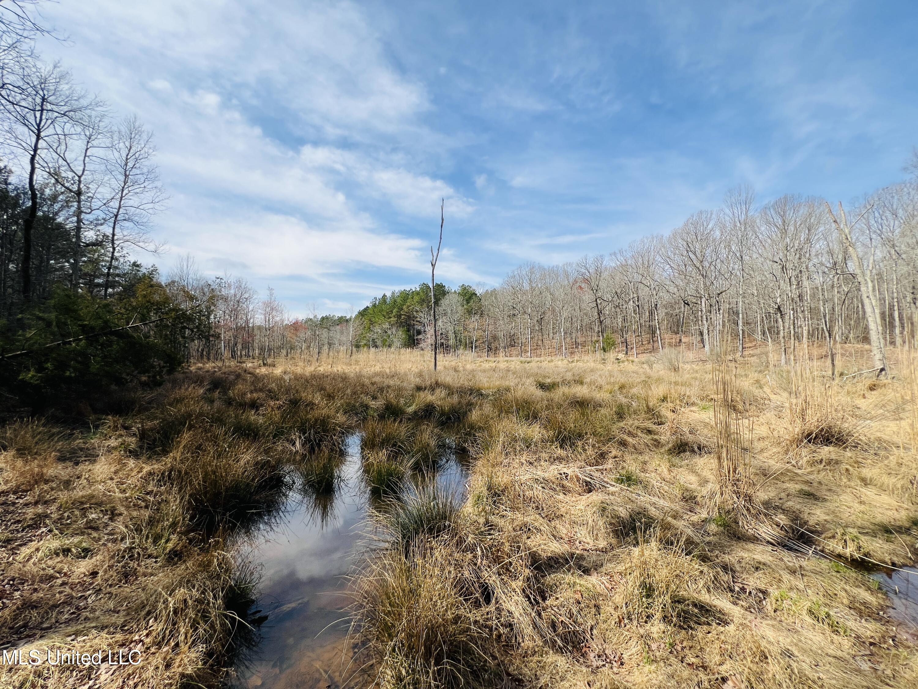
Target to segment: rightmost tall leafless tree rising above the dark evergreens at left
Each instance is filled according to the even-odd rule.
[[[132,245],[156,252],[160,248],[148,232],[151,217],[162,209],[166,200],[153,163],[155,152],[152,134],[144,129],[137,117],[125,118],[114,131],[106,160],[110,185],[106,210],[110,233],[103,297],[108,296],[111,288],[112,266],[118,249]]]

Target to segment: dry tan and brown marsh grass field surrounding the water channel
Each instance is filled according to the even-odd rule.
[[[918,685],[914,636],[867,574],[918,552],[910,362],[832,381],[764,356],[434,375],[420,354],[362,354],[197,367],[117,413],[12,421],[0,646],[144,661],[6,667],[0,685],[218,683],[252,636],[236,545],[355,430],[387,496],[354,572],[355,685]],[[465,503],[399,497],[446,442],[472,457]]]

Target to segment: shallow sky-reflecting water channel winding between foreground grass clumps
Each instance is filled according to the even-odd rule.
[[[447,453],[422,484],[461,497],[465,463]],[[338,689],[356,669],[347,658],[347,575],[362,557],[373,504],[361,463],[361,436],[348,436],[334,479],[323,490],[292,491],[285,507],[251,538],[243,556],[260,569],[258,607],[267,614],[233,687]]]

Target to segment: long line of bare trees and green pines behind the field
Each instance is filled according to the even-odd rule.
[[[743,356],[753,341],[785,364],[820,342],[834,371],[838,344],[868,343],[880,372],[889,347],[918,344],[918,177],[849,209],[794,195],[757,204],[740,186],[671,232],[437,300],[442,352],[455,356],[712,356],[728,341]],[[374,299],[361,344],[428,344],[429,302],[424,285]]]

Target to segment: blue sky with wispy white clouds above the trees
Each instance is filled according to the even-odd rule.
[[[609,252],[738,183],[853,200],[918,144],[918,3],[60,0],[42,40],[154,131],[168,266],[345,312]]]

